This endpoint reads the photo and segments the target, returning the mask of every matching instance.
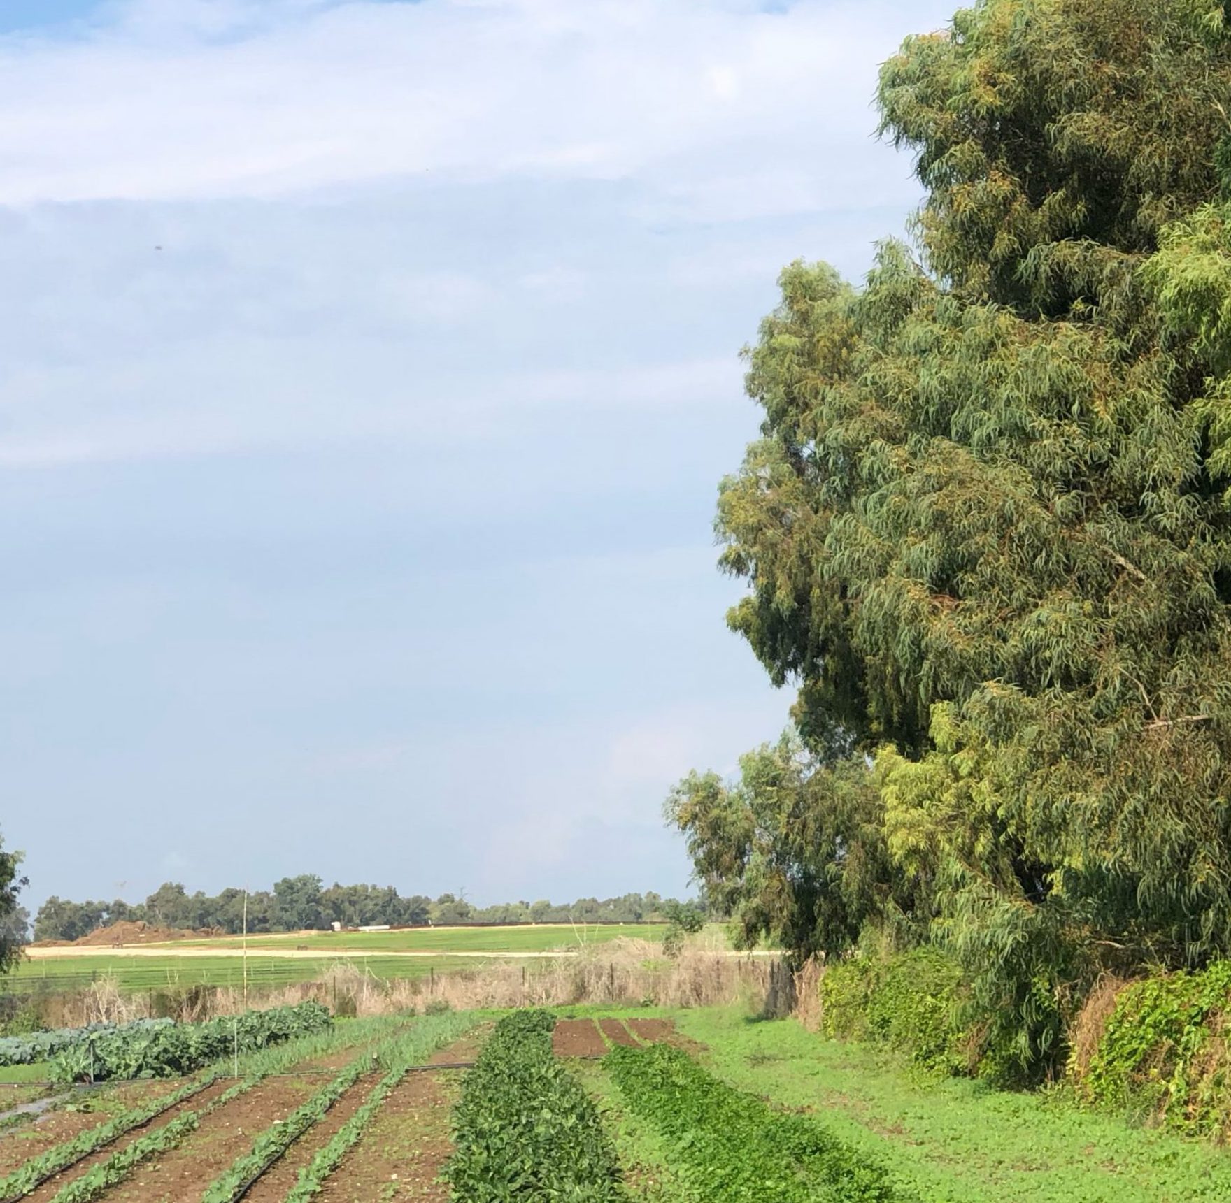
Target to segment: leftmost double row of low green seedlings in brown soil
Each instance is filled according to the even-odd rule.
[[[193,1130],[201,1118],[211,1111],[224,1106],[231,1098],[251,1090],[268,1075],[283,1073],[298,1062],[324,1055],[339,1047],[355,1044],[358,1041],[368,1038],[380,1027],[387,1026],[388,1020],[382,1020],[379,1025],[371,1021],[357,1021],[356,1023],[347,1025],[345,1028],[325,1028],[302,1036],[286,1044],[261,1048],[241,1057],[238,1066],[241,1078],[225,1094],[212,1100],[204,1107],[188,1112],[170,1124],[164,1124],[124,1149],[112,1154],[95,1166],[90,1173],[68,1183],[55,1197],[57,1203],[82,1203],[85,1199],[95,1198],[108,1186],[121,1181],[142,1160],[161,1153],[178,1143],[178,1140],[182,1140],[183,1137]],[[161,1113],[204,1090],[223,1076],[223,1069],[229,1070],[230,1068],[230,1064],[225,1064],[204,1078],[187,1082],[182,1089],[171,1095],[165,1095],[132,1107],[106,1123],[82,1132],[74,1139],[65,1140],[39,1154],[37,1157],[32,1157],[12,1173],[0,1178],[0,1199],[4,1203],[12,1203],[12,1201],[23,1198],[55,1173],[90,1154],[106,1148],[128,1132],[149,1123],[151,1119],[156,1119]],[[85,1182],[86,1180],[89,1180],[89,1186],[78,1186],[78,1182]]]

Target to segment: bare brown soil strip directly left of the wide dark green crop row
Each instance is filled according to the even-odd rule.
[[[473,1060],[484,1036],[485,1030],[473,1032],[433,1054],[428,1064]],[[321,1203],[447,1203],[449,1191],[439,1176],[453,1151],[449,1114],[460,1080],[453,1070],[407,1074],[326,1178]]]

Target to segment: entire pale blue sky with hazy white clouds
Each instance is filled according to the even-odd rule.
[[[788,722],[740,348],[918,187],[952,0],[0,2],[0,758],[27,904],[655,889]]]

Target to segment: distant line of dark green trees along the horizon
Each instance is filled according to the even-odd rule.
[[[272,891],[247,895],[249,931],[323,930],[334,923],[343,927],[377,924],[407,926],[451,923],[648,923],[673,913],[675,899],[652,892],[619,898],[579,898],[575,903],[516,902],[473,907],[464,898],[441,894],[403,897],[393,886],[340,886],[324,888],[310,873],[283,877]],[[98,927],[123,920],[159,927],[215,929],[238,934],[244,929],[244,891],[224,889],[217,895],[190,894],[178,882],[159,886],[143,903],[70,902],[50,897],[34,916],[36,940],[79,940]]]

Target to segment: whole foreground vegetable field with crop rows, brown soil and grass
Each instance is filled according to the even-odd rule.
[[[1231,1198],[1231,1155],[1211,1144],[1056,1096],[921,1080],[740,1007],[342,1021],[94,1100],[0,1129],[0,1198]]]

